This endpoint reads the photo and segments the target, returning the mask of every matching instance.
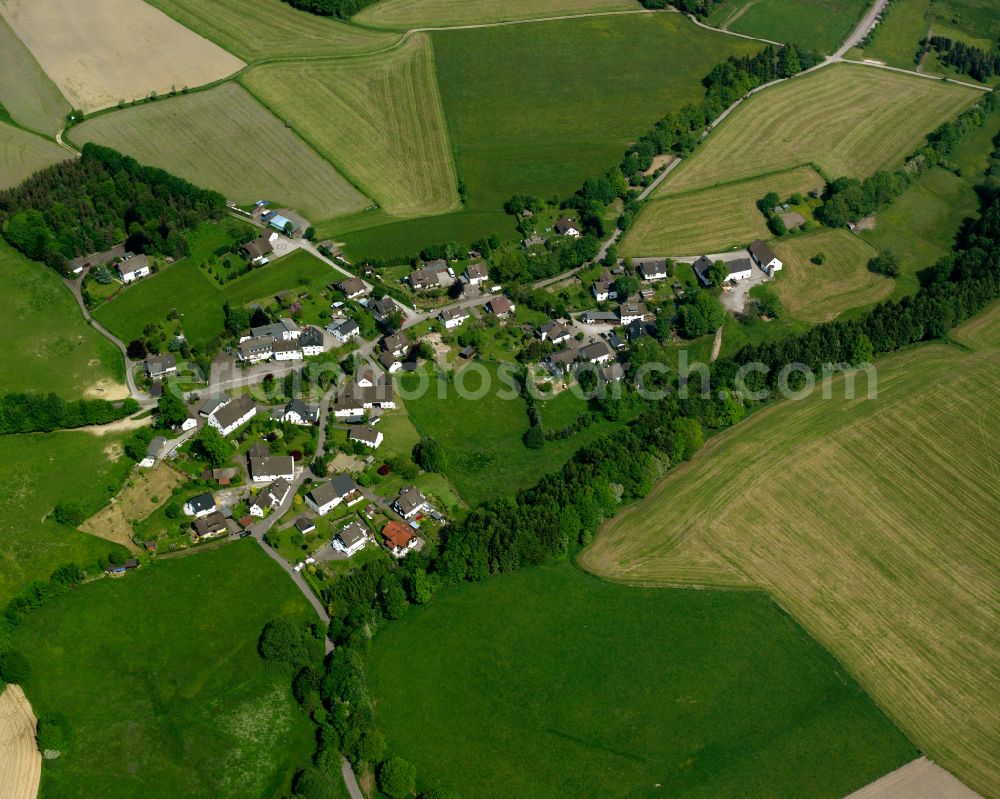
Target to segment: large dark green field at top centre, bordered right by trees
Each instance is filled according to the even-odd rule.
[[[321,231],[354,255],[516,236],[503,213],[512,194],[571,195],[664,114],[701,100],[701,79],[716,63],[759,48],[670,13],[438,31],[433,42],[465,205],[431,219]]]

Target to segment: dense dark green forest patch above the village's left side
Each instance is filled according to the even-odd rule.
[[[12,246],[63,272],[68,259],[123,241],[133,252],[180,257],[183,232],[225,208],[218,192],[86,144],[80,158],[0,193],[0,225]]]

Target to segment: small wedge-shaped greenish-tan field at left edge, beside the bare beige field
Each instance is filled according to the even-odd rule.
[[[50,136],[63,126],[69,103],[2,16],[0,75],[0,106],[15,122]]]

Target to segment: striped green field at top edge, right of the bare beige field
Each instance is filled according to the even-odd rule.
[[[272,56],[358,55],[400,41],[399,34],[365,30],[277,0],[147,2],[247,63]]]

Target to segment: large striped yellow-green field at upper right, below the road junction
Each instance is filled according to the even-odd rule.
[[[743,103],[658,193],[808,163],[831,178],[867,177],[895,166],[978,96],[974,89],[882,69],[825,67]]]

